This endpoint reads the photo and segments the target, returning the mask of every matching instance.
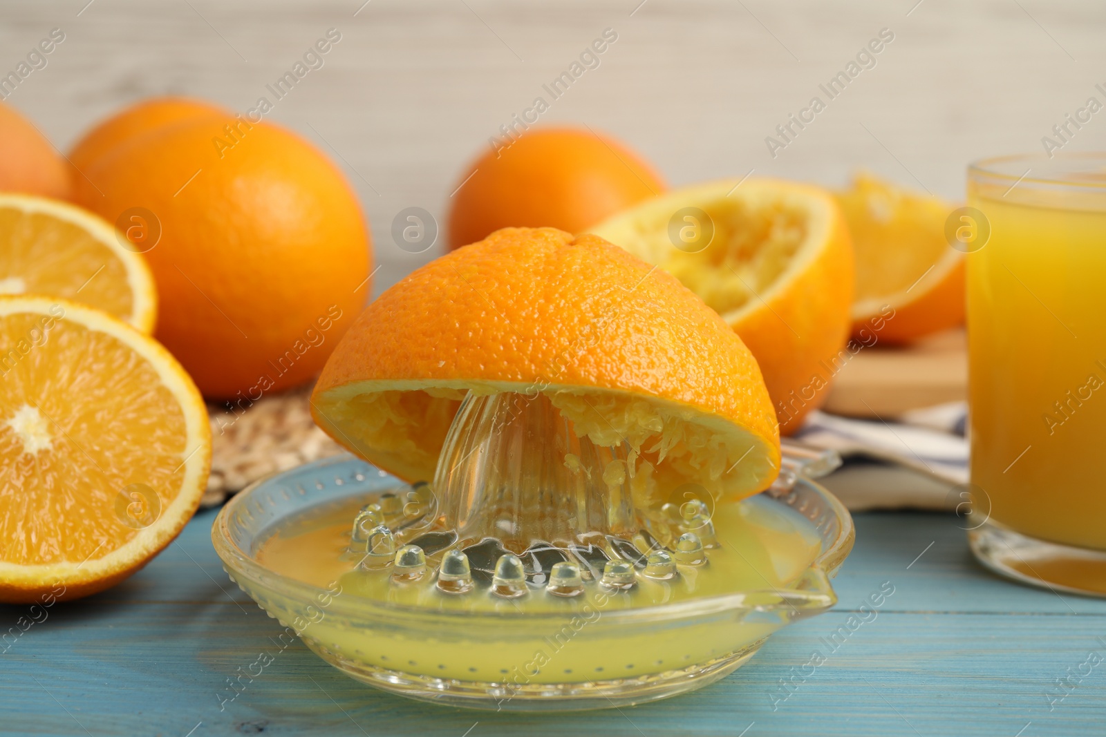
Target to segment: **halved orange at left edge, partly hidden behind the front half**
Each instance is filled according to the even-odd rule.
[[[150,333],[157,291],[138,253],[146,245],[66,202],[0,193],[0,294],[72,299]]]

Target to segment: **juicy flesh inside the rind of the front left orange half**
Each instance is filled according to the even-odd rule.
[[[117,549],[139,533],[121,492],[146,484],[166,509],[188,455],[184,411],[146,358],[67,319],[35,339],[44,318],[0,319],[0,561],[15,565]]]

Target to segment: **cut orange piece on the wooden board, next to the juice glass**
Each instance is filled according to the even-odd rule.
[[[858,338],[908,343],[964,322],[964,254],[945,236],[951,204],[869,173],[837,201],[856,250]]]

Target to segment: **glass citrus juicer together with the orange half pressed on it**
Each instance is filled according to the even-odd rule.
[[[316,421],[362,457],[262,480],[216,520],[231,578],[355,678],[476,708],[635,704],[711,683],[784,624],[836,603],[828,578],[852,548],[852,520],[810,478],[835,459],[792,446],[780,461],[774,427],[764,432],[758,419],[760,402],[771,404],[755,365],[690,292],[599,239],[546,231],[497,241],[500,231],[373,303],[313,396]],[[479,360],[479,340],[413,344],[409,320],[468,333],[455,317],[492,294],[482,281],[502,262],[489,255],[535,272],[515,296],[560,282],[617,301],[577,309],[546,343],[580,348],[575,326],[595,328],[620,308],[629,322],[668,320],[734,373],[691,372],[672,389],[597,387],[578,370],[595,349],[573,361],[561,345],[561,368],[546,371],[555,381],[524,370],[503,380],[489,375],[502,367]],[[638,286],[604,289],[619,280]],[[532,317],[521,330],[482,326],[480,338],[517,338],[533,359],[526,333],[538,337],[542,318]],[[627,319],[609,324],[612,337],[634,331]],[[400,340],[408,350],[390,352]],[[593,370],[592,381],[633,383],[636,359],[655,373],[680,350],[618,345],[632,368],[614,379]],[[674,401],[703,386],[716,394]],[[744,409],[724,409],[727,397]],[[711,402],[722,409],[707,411]]]

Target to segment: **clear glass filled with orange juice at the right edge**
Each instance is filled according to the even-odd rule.
[[[969,168],[972,523],[987,567],[1106,596],[1106,154]]]

